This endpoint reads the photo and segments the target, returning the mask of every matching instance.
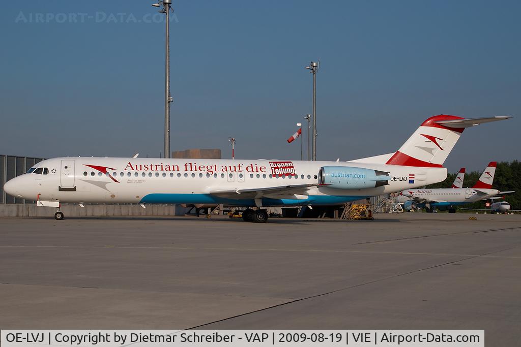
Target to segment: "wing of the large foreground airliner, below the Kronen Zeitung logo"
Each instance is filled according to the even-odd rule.
[[[299,199],[305,200],[308,189],[320,186],[319,183],[295,184],[278,187],[247,188],[247,189],[210,189],[209,194],[230,199]]]

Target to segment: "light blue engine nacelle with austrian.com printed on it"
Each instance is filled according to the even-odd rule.
[[[366,189],[389,184],[389,173],[353,166],[322,166],[318,183],[336,189]]]

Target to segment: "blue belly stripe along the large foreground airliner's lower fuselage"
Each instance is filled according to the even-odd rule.
[[[263,206],[281,205],[334,205],[344,202],[365,199],[366,196],[315,195],[306,200],[268,199],[262,198]],[[154,193],[144,196],[140,203],[193,203],[193,204],[227,204],[237,206],[255,206],[253,199],[228,199],[211,194],[163,194]]]

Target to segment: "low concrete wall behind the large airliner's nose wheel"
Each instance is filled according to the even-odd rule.
[[[173,216],[184,215],[186,208],[178,205],[85,205],[63,204],[60,211],[67,216]],[[33,204],[0,204],[0,217],[51,217],[52,207],[36,207]]]

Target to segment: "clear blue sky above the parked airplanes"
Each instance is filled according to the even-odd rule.
[[[164,21],[152,3],[3,2],[0,153],[157,157]],[[299,159],[286,139],[311,113],[304,67],[320,58],[318,159],[395,151],[435,114],[517,116],[465,131],[450,171],[520,159],[519,2],[174,6],[172,150],[221,148],[227,158],[233,136],[237,158]]]

